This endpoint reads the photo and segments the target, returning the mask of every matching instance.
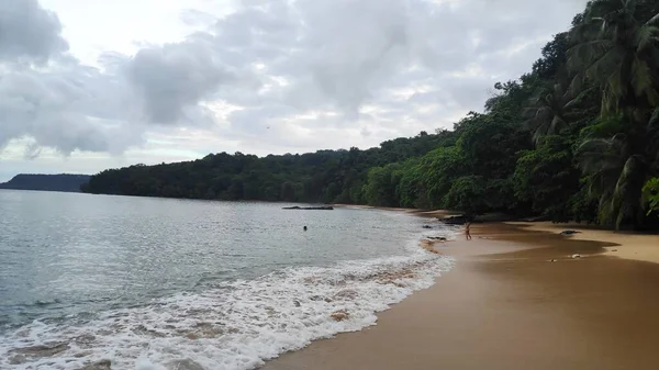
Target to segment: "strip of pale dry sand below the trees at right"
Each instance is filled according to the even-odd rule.
[[[566,225],[552,224],[549,222],[510,224],[523,226],[528,231],[552,234],[560,233],[565,229],[579,231],[579,234],[574,234],[573,236],[570,236],[570,238],[577,240],[595,240],[614,244],[606,248],[605,255],[659,264],[659,235],[614,233],[611,231],[591,228],[580,224]]]

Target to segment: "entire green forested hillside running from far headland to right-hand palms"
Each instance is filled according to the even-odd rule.
[[[83,190],[501,211],[656,227],[659,1],[597,0],[483,113],[379,148],[236,154],[94,176]]]

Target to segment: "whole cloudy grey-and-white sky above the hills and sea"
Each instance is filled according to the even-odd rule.
[[[1,0],[0,181],[450,128],[587,0]]]

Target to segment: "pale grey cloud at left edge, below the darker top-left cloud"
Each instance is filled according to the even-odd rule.
[[[77,64],[48,71],[12,70],[0,78],[0,148],[31,137],[29,157],[40,146],[64,155],[74,150],[122,153],[141,143],[125,121],[120,89],[98,70]]]

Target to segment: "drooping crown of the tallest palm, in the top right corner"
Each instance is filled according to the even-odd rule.
[[[602,115],[626,111],[647,122],[659,105],[659,14],[657,1],[595,0],[570,37],[572,88],[590,80],[602,89]],[[648,16],[648,14],[650,16]],[[652,16],[654,15],[654,16]]]

